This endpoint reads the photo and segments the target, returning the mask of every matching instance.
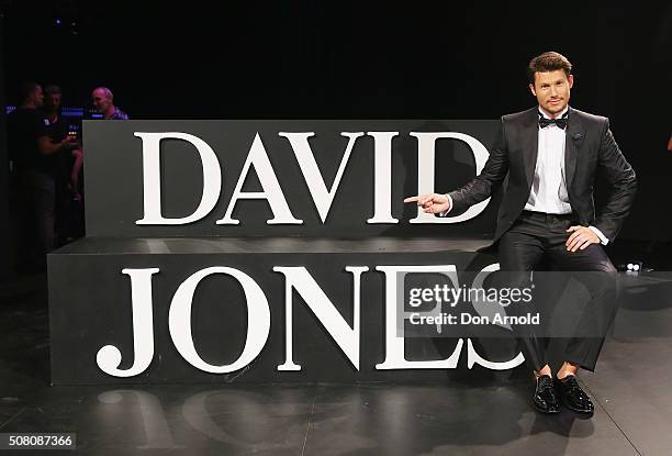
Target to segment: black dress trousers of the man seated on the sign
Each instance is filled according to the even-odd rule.
[[[567,249],[565,242],[571,234],[567,229],[578,224],[574,214],[524,211],[500,240],[497,274],[502,287],[530,287],[535,281],[534,271],[537,270],[564,271],[581,281],[591,299],[573,327],[573,333],[568,336],[564,360],[594,370],[604,336],[616,315],[618,276],[601,244],[591,244],[576,252]],[[552,277],[552,274],[544,277]],[[552,300],[557,297],[546,298]],[[535,296],[530,302],[531,308],[508,305],[506,313],[516,315],[534,312],[535,307],[539,307],[538,300],[546,298]],[[539,334],[539,327],[533,324],[512,324],[512,329],[533,369],[539,370],[548,364],[548,340]]]

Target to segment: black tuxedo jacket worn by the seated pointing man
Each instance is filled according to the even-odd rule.
[[[613,242],[630,211],[637,179],[616,145],[606,118],[570,108],[565,129],[564,171],[572,210],[584,226],[593,225]],[[462,211],[494,193],[504,182],[504,194],[494,243],[523,212],[537,164],[539,110],[537,107],[504,115],[490,151],[490,158],[479,176],[448,193],[453,211]],[[612,185],[608,200],[595,213],[593,186],[597,170],[604,171]]]

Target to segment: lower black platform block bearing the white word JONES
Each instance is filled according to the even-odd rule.
[[[81,240],[48,258],[52,381],[440,381],[469,367],[485,371],[478,356],[511,362],[517,355],[513,341],[413,336],[401,340],[399,355],[400,346],[390,345],[399,334],[385,327],[385,298],[390,281],[399,278],[391,266],[453,265],[468,283],[496,263],[492,254],[475,252],[488,244],[389,237]],[[451,357],[451,366],[384,368],[400,356]]]

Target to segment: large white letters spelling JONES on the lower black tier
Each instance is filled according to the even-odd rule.
[[[496,270],[497,265],[490,265],[481,270],[474,278],[472,288],[482,285],[484,277]],[[329,300],[320,285],[314,280],[305,267],[276,266],[275,273],[284,276],[284,312],[285,312],[285,346],[284,363],[277,369],[280,371],[301,370],[301,365],[293,359],[293,325],[292,325],[292,294],[295,290],[306,302],[309,309],[317,318],[329,336],[349,359],[354,369],[359,370],[359,341],[360,341],[360,283],[361,275],[369,270],[368,266],[347,266],[346,271],[352,275],[352,315],[354,324],[346,322],[334,303]],[[440,274],[445,276],[455,288],[460,288],[457,268],[455,265],[439,266],[377,266],[377,271],[385,276],[385,359],[378,364],[376,369],[453,369],[458,365],[464,341],[460,338],[453,353],[446,359],[439,360],[406,360],[404,357],[404,337],[399,335],[403,327],[404,313],[400,312],[400,302],[403,299],[399,290],[403,287],[406,274]],[[122,354],[117,347],[105,345],[98,352],[97,363],[100,369],[114,377],[133,377],[147,369],[154,358],[154,323],[153,323],[153,293],[152,276],[159,273],[159,268],[123,269],[122,273],[131,279],[131,302],[133,309],[133,365],[127,369],[120,369]],[[191,332],[191,305],[199,283],[213,275],[226,275],[235,279],[242,287],[247,304],[247,335],[245,346],[239,357],[231,364],[214,366],[199,356],[193,344]],[[400,280],[401,279],[401,280]],[[402,283],[400,283],[400,281]],[[482,312],[484,307],[475,303],[474,308]],[[440,304],[438,304],[440,308]],[[401,314],[400,314],[401,313]],[[261,287],[244,271],[225,266],[213,266],[192,274],[181,282],[170,302],[168,315],[170,337],[180,355],[197,369],[210,374],[228,374],[249,365],[266,345],[270,330],[270,307]],[[467,340],[469,368],[474,364],[493,370],[511,369],[523,363],[523,355],[518,354],[507,362],[490,362],[481,357]]]

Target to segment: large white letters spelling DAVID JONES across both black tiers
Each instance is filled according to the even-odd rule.
[[[315,156],[311,149],[309,138],[314,133],[284,133],[278,136],[285,138],[291,145],[294,158],[299,165],[310,197],[315,205],[321,221],[324,223],[329,214],[334,197],[339,189],[344,170],[346,169],[356,142],[363,136],[373,138],[374,157],[374,191],[373,214],[367,223],[399,223],[391,212],[391,151],[392,140],[399,136],[397,132],[340,132],[347,138],[347,146],[343,153],[338,170],[332,186],[325,183],[320,171]],[[435,174],[435,145],[437,140],[461,141],[469,146],[473,154],[477,174],[483,168],[489,153],[477,138],[456,132],[412,132],[411,136],[417,140],[417,192],[434,191]],[[142,219],[135,221],[137,225],[184,225],[197,222],[206,216],[215,208],[222,189],[222,167],[217,154],[200,137],[180,132],[134,132],[134,136],[142,141],[143,153],[143,198],[144,211]],[[191,214],[180,218],[167,218],[161,213],[161,142],[177,140],[188,143],[194,151],[194,159],[200,159],[203,170],[203,187],[200,203]],[[243,186],[251,170],[256,173],[262,191],[244,191]],[[268,225],[273,224],[302,224],[290,209],[276,170],[269,160],[268,153],[257,133],[247,153],[247,158],[237,178],[235,190],[227,209],[216,221],[220,225],[237,225],[239,220],[233,218],[234,209],[240,200],[266,200],[272,211],[272,218],[267,220]],[[418,210],[417,216],[411,223],[458,223],[481,213],[489,200],[473,205],[462,214],[447,218],[436,218]],[[497,269],[497,265],[490,265],[481,270],[475,282],[482,282],[484,276]],[[351,368],[359,370],[360,353],[360,280],[362,274],[371,274],[368,266],[347,266],[345,268],[352,278],[352,315],[350,326],[338,312],[334,303],[325,294],[305,267],[275,266],[272,271],[284,277],[284,360],[277,366],[279,371],[301,370],[300,360],[293,358],[293,326],[292,326],[292,294],[296,291],[305,301],[310,310],[324,326],[333,342],[345,354]],[[483,358],[474,349],[471,340],[459,338],[455,351],[445,359],[437,360],[406,360],[404,357],[404,337],[399,335],[397,329],[403,327],[404,312],[400,312],[399,290],[403,289],[403,277],[408,273],[430,273],[445,275],[455,287],[459,288],[455,265],[443,266],[377,266],[376,270],[384,274],[384,360],[374,366],[376,369],[452,369],[458,365],[462,348],[467,347],[468,367],[480,365],[489,369],[503,370],[518,366],[523,363],[523,355],[517,354],[506,362],[491,362]],[[114,377],[133,377],[144,372],[154,358],[154,323],[153,323],[153,276],[159,273],[157,267],[124,268],[124,275],[131,282],[132,304],[132,333],[134,353],[127,354],[133,358],[133,365],[127,369],[120,369],[122,353],[114,345],[105,345],[98,351],[98,367],[105,374]],[[191,330],[191,307],[194,292],[199,283],[206,277],[226,275],[235,279],[244,290],[247,304],[247,335],[244,348],[238,358],[225,365],[212,365],[204,360],[194,347]],[[477,311],[479,311],[478,307]],[[479,311],[480,312],[480,311]],[[264,349],[270,331],[270,307],[261,286],[245,271],[226,266],[213,266],[193,273],[182,281],[169,307],[168,327],[176,349],[191,366],[205,372],[227,374],[248,366]]]

